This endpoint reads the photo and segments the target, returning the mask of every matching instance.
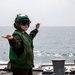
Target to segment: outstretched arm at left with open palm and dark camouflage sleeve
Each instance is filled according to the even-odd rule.
[[[21,47],[21,38],[19,35],[6,35],[2,36],[2,38],[8,39],[10,46],[12,46],[15,50],[18,50]]]

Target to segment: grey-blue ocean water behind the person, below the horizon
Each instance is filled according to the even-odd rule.
[[[34,29],[30,27],[28,33]],[[9,43],[1,36],[12,34],[14,27],[0,27],[0,63],[9,61]],[[49,64],[53,59],[75,60],[75,27],[40,27],[34,38],[34,64]]]

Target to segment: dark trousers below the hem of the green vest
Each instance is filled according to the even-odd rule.
[[[32,68],[31,69],[18,69],[18,68],[11,68],[13,75],[33,75]]]

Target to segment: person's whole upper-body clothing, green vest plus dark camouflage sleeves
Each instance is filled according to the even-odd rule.
[[[34,66],[33,38],[37,32],[37,29],[31,31],[30,34],[15,30],[13,33],[14,38],[9,40],[11,66],[21,69],[32,68]]]

